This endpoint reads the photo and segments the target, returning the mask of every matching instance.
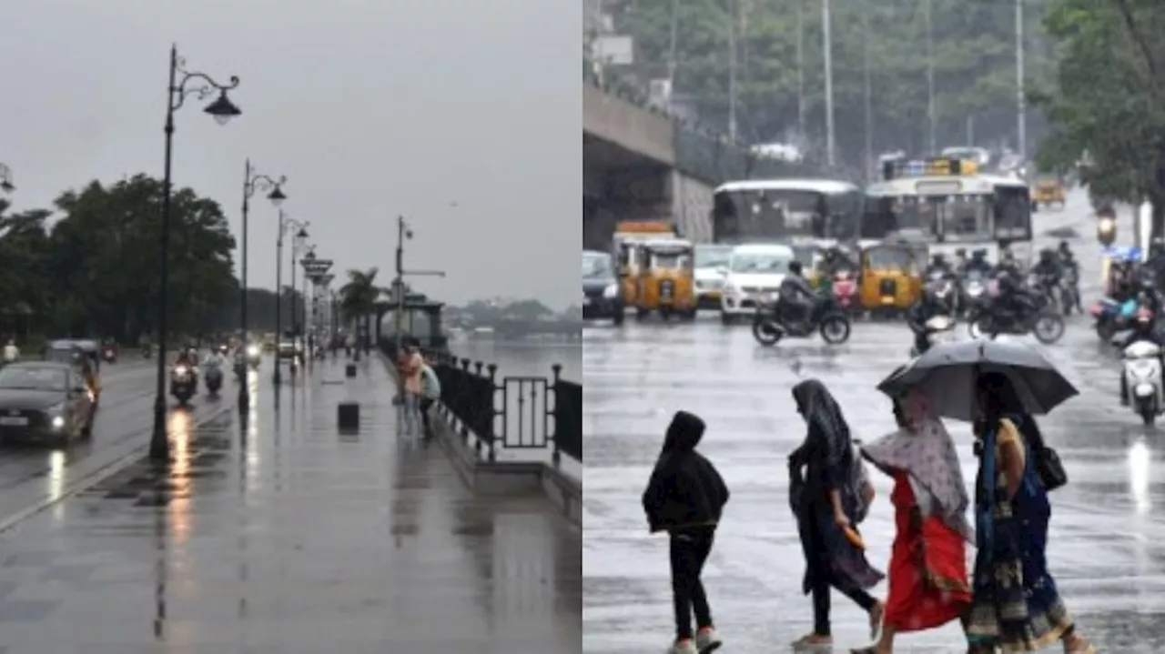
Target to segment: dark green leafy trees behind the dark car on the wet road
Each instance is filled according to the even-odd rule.
[[[26,313],[6,328],[136,340],[156,328],[162,183],[144,175],[92,182],[45,209],[0,204],[0,310]],[[50,225],[50,216],[57,218]],[[171,200],[169,317],[175,332],[228,326],[238,305],[221,207],[190,189]],[[23,311],[27,310],[27,311]]]

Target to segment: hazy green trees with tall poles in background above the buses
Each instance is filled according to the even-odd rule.
[[[805,133],[825,131],[825,83],[820,0],[737,6],[737,121],[753,142],[784,140],[798,127],[798,2],[803,1]],[[1099,0],[1096,0],[1099,1]],[[647,77],[666,77],[672,0],[636,0],[621,16],[635,36]],[[728,113],[729,0],[678,1],[673,93],[689,97],[699,114],[723,126]],[[874,148],[923,151],[927,135],[926,20],[923,0],[834,0],[831,20],[836,138],[843,156],[864,147],[864,71],[869,52]],[[1051,71],[1051,50],[1039,30],[1044,6],[1026,9],[1028,79]],[[933,0],[938,147],[963,144],[968,119],[975,141],[1016,136],[1015,8],[1009,1]],[[1038,120],[1030,121],[1038,130]]]

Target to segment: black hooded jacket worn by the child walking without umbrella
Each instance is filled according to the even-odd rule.
[[[728,486],[707,458],[696,452],[704,420],[679,411],[668,426],[663,450],[643,491],[651,532],[714,525],[728,503]]]

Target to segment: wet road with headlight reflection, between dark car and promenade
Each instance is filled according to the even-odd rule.
[[[0,528],[48,502],[59,499],[78,481],[100,474],[149,441],[154,422],[155,362],[127,357],[101,367],[101,405],[93,434],[68,449],[6,446],[0,448]],[[233,403],[236,389],[228,382],[224,397],[200,394],[191,408],[202,419]]]

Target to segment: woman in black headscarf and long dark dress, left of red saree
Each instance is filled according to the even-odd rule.
[[[805,441],[789,455],[790,503],[797,517],[805,578],[802,590],[813,596],[813,632],[793,647],[826,646],[829,631],[829,589],[835,588],[870,617],[871,638],[877,637],[884,607],[868,589],[882,573],[866,560],[854,523],[864,500],[856,488],[854,443],[841,408],[817,379],[793,386],[797,412],[805,419]]]

